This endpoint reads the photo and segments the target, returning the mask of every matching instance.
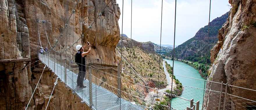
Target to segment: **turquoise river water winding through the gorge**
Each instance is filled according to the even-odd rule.
[[[167,60],[168,64],[173,66],[173,60]],[[194,102],[197,102],[198,100],[200,101],[200,109],[202,106],[202,101],[203,101],[203,93],[204,93],[204,81],[203,78],[200,76],[198,73],[198,70],[194,69],[193,67],[182,63],[180,61],[175,60],[174,61],[174,75],[176,75],[176,79],[178,79],[182,85],[184,85],[184,91],[182,92],[182,95],[180,97],[186,98],[188,100],[191,100],[192,98],[194,99]],[[181,76],[177,76],[181,75]],[[191,78],[186,78],[186,77],[191,77]],[[197,80],[197,79],[192,79],[192,78],[197,78],[197,79],[202,79],[202,80]],[[189,87],[185,87],[189,86]],[[192,88],[195,87],[195,88]],[[197,89],[201,88],[201,89]],[[189,107],[190,102],[181,98],[173,98],[172,100],[172,107],[177,110],[184,110],[186,107]],[[194,104],[195,105],[195,104]]]

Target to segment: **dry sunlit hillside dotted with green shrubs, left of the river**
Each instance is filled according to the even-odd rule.
[[[121,52],[120,47],[116,47],[116,49],[117,51]],[[163,72],[162,63],[160,63],[160,73],[155,72],[155,71],[159,71],[159,56],[157,54],[147,53],[140,47],[133,47],[133,48],[123,47],[122,55],[125,58],[125,60],[133,66],[132,68],[138,73],[138,75],[134,74],[134,71],[130,70],[130,65],[127,64],[125,61],[122,62],[122,65],[123,67],[125,67],[125,71],[126,71],[124,73],[123,78],[129,80],[130,74],[127,71],[131,71],[131,81],[135,82],[132,84],[133,86],[131,87],[132,95],[138,96],[140,98],[145,98],[145,96],[149,92],[148,88],[141,86],[141,85],[145,85],[145,83],[147,86],[151,88],[154,88],[154,87],[165,88],[167,86],[167,83],[163,82],[163,81],[166,81],[166,76],[164,73],[161,73]],[[160,60],[161,60],[160,62],[163,61],[163,59],[160,59]],[[153,70],[153,71],[150,71],[150,70]],[[159,74],[159,80],[163,80],[163,81],[153,80],[153,79],[158,79],[158,74]],[[123,82],[122,86],[123,88],[125,88],[124,90],[127,93],[129,93],[129,85],[124,83],[126,82]],[[138,85],[136,83],[141,85]],[[143,104],[143,100],[141,99],[132,97],[131,100],[133,100],[133,102]]]

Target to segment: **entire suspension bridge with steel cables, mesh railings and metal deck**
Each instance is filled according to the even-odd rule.
[[[86,33],[88,30],[92,29],[93,24],[95,23],[95,21],[99,18],[102,19],[102,13],[104,12],[105,8],[109,5],[109,3],[111,3],[112,1],[109,0],[108,3],[106,3],[106,6],[100,11],[100,13],[98,13],[97,17],[95,17],[95,20],[93,21],[93,23],[91,23],[88,26],[88,29],[85,30],[84,33]],[[66,31],[65,33],[65,37],[67,37],[67,30],[68,30],[68,24],[69,21],[73,15],[73,24],[74,24],[74,14],[75,14],[75,9],[77,7],[79,3],[79,0],[77,0],[76,5],[74,6],[71,15],[69,16],[69,18],[67,19],[67,21],[65,22],[65,28],[62,30],[62,32],[60,33],[60,36],[56,39],[56,42],[54,43],[54,45],[51,45],[47,35],[47,31],[46,31],[46,26],[45,26],[45,33],[46,33],[46,39],[49,43],[50,49],[49,51],[44,51],[45,54],[39,54],[38,53],[38,59],[45,64],[45,67],[43,69],[40,69],[40,71],[42,71],[41,76],[43,75],[44,71],[54,71],[54,73],[58,76],[58,78],[56,78],[56,82],[54,83],[54,87],[58,86],[58,80],[61,80],[61,82],[65,83],[66,87],[70,88],[74,93],[77,94],[78,97],[81,98],[81,102],[85,102],[91,109],[98,109],[98,110],[112,110],[112,109],[119,109],[119,110],[126,110],[126,109],[132,109],[132,110],[143,110],[143,109],[176,109],[175,106],[180,106],[184,109],[187,110],[199,110],[199,109],[256,109],[256,101],[251,99],[250,97],[241,97],[239,96],[239,94],[232,94],[232,93],[228,93],[228,88],[237,88],[237,90],[243,91],[245,93],[245,91],[248,91],[249,93],[256,93],[256,90],[253,89],[248,89],[248,88],[243,88],[243,87],[237,87],[234,85],[228,85],[227,83],[223,83],[223,82],[213,82],[210,80],[202,80],[202,79],[196,79],[196,78],[191,78],[191,77],[186,77],[186,76],[181,76],[183,78],[189,78],[189,79],[193,79],[193,80],[202,80],[205,82],[208,82],[209,84],[214,84],[217,87],[220,87],[216,90],[211,90],[211,89],[205,89],[205,86],[202,88],[197,88],[197,87],[191,87],[191,86],[187,86],[187,85],[180,85],[180,84],[175,84],[173,83],[173,81],[166,81],[166,80],[159,80],[159,75],[158,78],[150,78],[148,76],[143,76],[141,74],[136,73],[136,71],[134,70],[134,72],[132,71],[126,71],[122,69],[122,60],[125,59],[122,57],[122,48],[121,48],[121,52],[120,52],[120,58],[121,58],[121,63],[111,63],[111,62],[102,62],[102,60],[98,61],[98,60],[91,60],[91,59],[86,59],[86,76],[83,79],[83,85],[86,85],[86,88],[79,88],[76,87],[77,86],[77,77],[79,72],[77,65],[74,64],[72,58],[69,58],[67,56],[67,50],[68,49],[73,49],[74,45],[77,44],[77,42],[79,40],[83,41],[84,38],[84,34],[81,35],[81,37],[79,37],[79,39],[77,39],[77,41],[74,41],[74,26],[73,26],[73,42],[72,45],[67,46],[67,40],[66,40],[66,46],[64,50],[58,51],[56,49],[57,44],[59,43],[59,39],[61,37],[63,37],[63,33]],[[132,4],[132,1],[131,1]],[[162,1],[163,4],[163,1]],[[175,25],[174,27],[176,28],[176,0],[175,0]],[[122,4],[123,7],[124,4]],[[210,6],[211,6],[211,1],[210,1]],[[162,13],[162,10],[161,10]],[[123,14],[123,12],[122,12]],[[132,14],[132,13],[131,13]],[[210,18],[210,11],[209,11],[209,18]],[[210,19],[209,19],[210,20]],[[102,20],[100,20],[101,22]],[[47,22],[47,21],[45,21]],[[41,38],[40,38],[40,28],[38,26],[39,24],[39,19],[37,20],[37,27],[38,27],[38,38],[39,38],[39,43],[40,43],[40,47],[42,48],[42,44],[45,45],[45,43],[41,42]],[[101,25],[102,23],[100,23]],[[132,24],[132,23],[131,23]],[[46,24],[45,24],[46,25]],[[162,25],[162,14],[161,14],[161,25]],[[101,27],[101,26],[100,26]],[[162,27],[162,26],[161,26]],[[98,30],[98,29],[96,29]],[[161,28],[161,32],[162,32],[162,28]],[[208,32],[209,32],[209,27],[208,27]],[[100,32],[98,32],[100,33]],[[91,35],[91,34],[90,34]],[[122,33],[123,35],[123,33]],[[97,36],[96,36],[97,39]],[[122,39],[122,38],[121,38]],[[122,47],[122,46],[121,46]],[[132,47],[132,43],[131,43],[131,47]],[[174,47],[175,47],[175,30],[174,30]],[[97,49],[97,42],[96,42],[96,49]],[[131,49],[130,49],[131,50]],[[58,56],[60,53],[65,53],[65,58],[59,58],[56,57]],[[160,52],[161,52],[161,34],[160,34]],[[175,52],[175,49],[173,49],[173,52]],[[131,53],[131,52],[130,52]],[[72,56],[74,56],[74,53],[72,52]],[[174,54],[173,54],[174,56]],[[159,54],[159,69],[160,69],[160,58],[161,58],[161,54]],[[8,62],[9,60],[6,60],[6,62]],[[13,59],[11,60],[13,61]],[[17,60],[17,61],[21,61],[21,60]],[[31,61],[30,59],[22,59],[22,61]],[[131,61],[130,61],[131,62]],[[35,62],[34,62],[35,63]],[[33,64],[33,63],[31,63]],[[26,65],[25,67],[27,67],[29,65]],[[36,65],[35,65],[36,66]],[[131,68],[132,65],[129,65]],[[46,69],[48,68],[48,69]],[[137,69],[142,69],[142,68],[138,68],[135,67]],[[29,69],[29,68],[27,68]],[[150,72],[155,72],[156,74],[161,73],[160,71],[153,71],[150,69],[144,69]],[[175,72],[175,71],[174,71]],[[164,73],[164,72],[163,72]],[[150,80],[154,80],[156,82],[164,82],[167,83],[168,85],[171,85],[171,93],[167,93],[166,91],[160,91],[158,89],[149,87],[144,83],[140,83],[140,82],[136,82],[133,81],[131,78],[131,74],[135,74],[138,75],[141,80],[142,78],[147,78]],[[169,73],[164,73],[164,74],[169,74]],[[173,80],[173,76],[172,75],[172,80]],[[41,76],[38,80],[38,83],[40,82]],[[176,75],[179,76],[179,75]],[[127,84],[128,86],[124,86],[125,84]],[[143,96],[145,96],[145,94],[139,94],[138,91],[136,91],[135,93],[131,93],[131,89],[134,89],[131,87],[131,85],[136,85],[137,88],[146,88],[149,89],[151,91],[154,91],[157,93],[157,99],[160,99],[160,94],[162,94],[161,99],[163,99],[163,96],[168,96],[170,97],[170,104],[163,104],[160,103],[161,100],[152,100],[152,99],[145,99]],[[203,93],[209,92],[211,93],[211,96],[207,96],[209,97],[209,99],[207,99],[207,103],[208,105],[203,105],[203,100],[194,100],[193,97],[194,93],[191,92],[189,93],[190,96],[184,96],[184,97],[179,97],[176,94],[173,93],[173,85],[176,86],[182,86],[184,89],[190,89],[193,90],[193,92],[197,92],[197,91],[203,91]],[[37,88],[38,84],[36,85],[35,89]],[[124,87],[129,87],[129,89],[124,88]],[[225,88],[225,89],[223,89]],[[51,92],[51,96],[52,93],[54,91],[54,88],[52,89]],[[33,91],[33,94],[35,93],[35,90]],[[33,98],[33,94],[30,98]],[[165,95],[164,95],[165,94]],[[50,99],[51,99],[50,96]],[[180,100],[184,100],[183,102],[179,102],[179,103],[172,103],[172,98],[179,98]],[[200,98],[205,98],[205,96],[199,96]],[[49,99],[47,107],[49,105],[49,102],[51,101]],[[29,106],[29,103],[27,104],[27,107]],[[143,102],[147,102],[147,104],[149,105],[145,105],[143,104]],[[46,109],[47,109],[46,107]],[[26,108],[27,109],[27,108]]]

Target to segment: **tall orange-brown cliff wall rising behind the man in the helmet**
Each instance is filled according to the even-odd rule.
[[[88,41],[92,46],[90,58],[100,58],[112,62],[115,59],[115,46],[119,41],[120,34],[118,4],[115,0],[79,0],[73,17],[70,15],[76,3],[76,1],[70,0],[24,1],[26,20],[31,34],[32,56],[35,56],[35,52],[40,48],[39,35],[42,47],[49,48],[48,40],[53,46],[62,33],[63,36],[56,43],[56,50],[61,51],[75,43],[84,34],[84,39],[80,39],[74,47],[68,49],[67,54],[74,55],[77,52],[75,46],[86,45]],[[100,12],[102,12],[102,16],[99,16]],[[65,23],[69,18],[70,21],[65,29]],[[46,23],[42,23],[42,21],[46,21]],[[92,28],[89,28],[91,24],[93,24]]]

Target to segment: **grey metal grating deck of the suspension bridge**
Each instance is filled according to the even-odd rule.
[[[47,66],[52,70],[58,70],[58,71],[54,71],[54,73],[63,82],[65,82],[65,79],[64,79],[65,73],[63,71],[60,71],[60,70],[66,69],[64,66],[50,60],[51,58],[46,55],[39,56],[39,59],[46,65],[50,64]],[[73,86],[76,87],[77,85],[77,77],[78,77],[77,74],[67,69],[67,74],[66,74],[67,80],[65,83],[66,83],[66,86],[69,87],[71,90]],[[86,85],[87,87],[83,89],[76,87],[73,91],[77,94],[77,96],[81,98],[82,102],[84,101],[90,107],[89,80],[84,79],[83,84]],[[92,103],[91,109],[93,110],[96,110],[96,109],[97,110],[115,110],[115,109],[116,110],[119,110],[119,109],[144,110],[144,108],[142,108],[141,106],[134,105],[123,98],[120,99],[115,93],[112,93],[111,91],[103,87],[100,87],[94,83],[92,83],[92,102],[93,103]]]

